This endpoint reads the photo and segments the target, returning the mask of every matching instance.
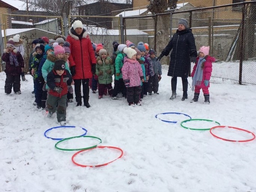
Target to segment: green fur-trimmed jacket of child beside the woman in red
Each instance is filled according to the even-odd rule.
[[[107,73],[108,70],[111,70],[111,73]],[[100,57],[97,57],[97,64],[96,64],[96,74],[98,76],[98,81],[100,84],[109,84],[112,83],[112,75],[114,74],[114,65],[112,63],[112,59],[109,57],[106,60],[100,60]],[[103,72],[102,75],[99,75],[99,72]]]

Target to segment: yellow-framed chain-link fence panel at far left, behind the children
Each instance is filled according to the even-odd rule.
[[[36,21],[36,22],[35,22]],[[4,49],[6,42],[19,34],[24,46],[25,72],[29,71],[29,58],[33,51],[32,42],[34,39],[48,37],[54,39],[57,34],[62,34],[62,17],[58,16],[37,16],[37,15],[16,15],[3,14],[3,40]],[[3,53],[0,53],[1,55]],[[0,71],[3,70],[1,65]]]

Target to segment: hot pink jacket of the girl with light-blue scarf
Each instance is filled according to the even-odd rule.
[[[195,70],[196,70],[196,66],[198,64],[198,60],[199,60],[199,57],[196,58],[196,63],[195,63],[195,66],[193,67],[193,71],[191,73],[191,77],[193,77],[194,74],[195,74]],[[202,76],[202,83],[201,83],[201,87],[202,88],[210,87],[210,82],[208,83],[208,86],[205,86],[204,85],[204,80],[210,80],[210,78],[211,78],[211,71],[213,70],[212,63],[215,61],[215,58],[207,55],[205,57],[205,60],[206,61],[204,62],[203,76]]]

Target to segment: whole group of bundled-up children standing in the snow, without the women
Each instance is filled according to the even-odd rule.
[[[69,43],[65,42],[63,36],[58,36],[55,40],[43,37],[35,39],[32,46],[30,73],[34,80],[34,104],[38,109],[46,109],[48,117],[57,111],[58,122],[65,125],[67,101],[73,101],[73,80],[68,62]],[[114,51],[111,57],[102,44],[92,43],[92,46],[97,64],[91,88],[93,93],[96,93],[98,88],[99,99],[108,93],[116,100],[118,93],[121,92],[122,96],[127,98],[129,106],[140,106],[144,95],[159,94],[161,63],[156,57],[156,52],[149,49],[147,43],[139,42],[136,48],[130,41],[126,41],[126,44],[113,42]],[[208,53],[209,47],[203,46],[199,50],[199,57],[191,74],[192,88],[195,91],[191,102],[198,101],[201,88],[204,96],[209,95],[211,63],[214,62],[214,58],[208,56]],[[24,72],[24,59],[21,52],[15,49],[13,39],[7,42],[2,60],[6,62],[5,93],[9,95],[13,87],[15,94],[21,94],[20,76]],[[210,103],[209,100],[207,102]]]

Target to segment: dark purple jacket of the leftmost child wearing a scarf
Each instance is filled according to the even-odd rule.
[[[19,63],[18,66],[15,66],[15,64],[11,64],[10,54],[16,55],[17,61]],[[21,74],[21,68],[24,68],[24,60],[23,60],[22,55],[19,52],[17,52],[17,53],[15,53],[15,52],[6,53],[6,51],[4,51],[3,56],[2,56],[2,60],[6,63],[5,64],[5,70],[4,70],[6,75],[19,75],[19,74]]]

